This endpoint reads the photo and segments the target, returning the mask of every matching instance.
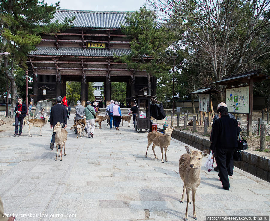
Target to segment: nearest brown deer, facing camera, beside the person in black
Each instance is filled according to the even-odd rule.
[[[187,153],[184,153],[179,159],[179,174],[184,182],[183,194],[180,203],[184,201],[184,193],[187,193],[187,208],[184,220],[187,220],[187,209],[190,201],[190,190],[192,190],[192,202],[193,202],[193,218],[197,219],[195,211],[195,194],[198,186],[201,183],[201,165],[202,157],[208,154],[208,149],[200,151],[191,150],[185,146]]]

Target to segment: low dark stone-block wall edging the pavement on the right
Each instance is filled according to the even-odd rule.
[[[192,134],[187,134],[185,132],[174,130],[172,138],[182,141],[192,147],[199,150],[210,150],[210,141],[204,138],[199,138]],[[240,168],[241,170],[247,171],[256,177],[270,182],[270,159],[257,156],[246,151],[242,152],[242,161],[234,161],[234,166]]]

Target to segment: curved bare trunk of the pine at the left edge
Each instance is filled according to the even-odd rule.
[[[15,117],[14,110],[17,103],[16,95],[17,95],[18,85],[16,85],[14,77],[12,76],[12,74],[10,74],[8,70],[7,57],[4,58],[4,68],[5,68],[5,73],[7,75],[7,78],[10,81],[10,85],[11,85],[11,110],[10,110],[9,117]]]

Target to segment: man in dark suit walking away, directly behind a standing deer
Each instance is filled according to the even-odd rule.
[[[56,102],[57,104],[52,106],[51,108],[51,116],[50,116],[50,123],[51,123],[51,128],[53,129],[55,124],[59,121],[60,123],[63,123],[62,128],[67,127],[67,109],[65,106],[61,105],[63,98],[62,97],[57,97]],[[51,141],[51,150],[53,150],[53,145],[55,142],[55,134],[56,132],[52,133],[52,141]],[[60,148],[60,145],[59,147]]]

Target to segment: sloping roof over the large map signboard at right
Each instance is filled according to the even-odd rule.
[[[255,70],[255,71],[248,71],[244,72],[242,74],[235,74],[228,77],[223,77],[222,80],[213,82],[211,84],[219,84],[219,85],[237,85],[241,83],[247,83],[249,82],[250,77],[253,78],[253,82],[261,82],[265,79],[270,79],[270,76],[267,74],[263,74],[261,72],[261,69]]]

